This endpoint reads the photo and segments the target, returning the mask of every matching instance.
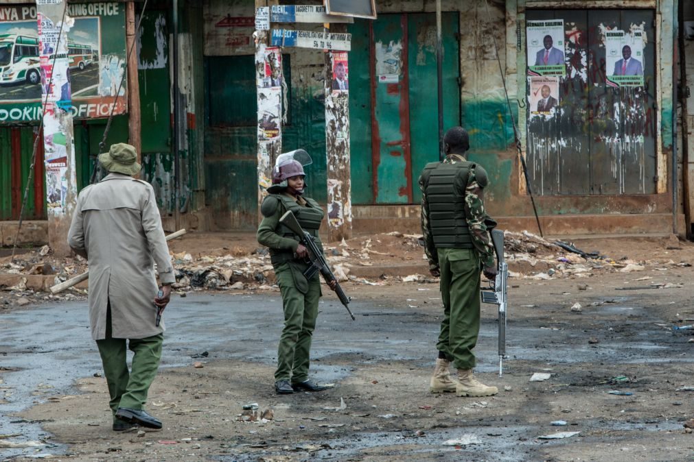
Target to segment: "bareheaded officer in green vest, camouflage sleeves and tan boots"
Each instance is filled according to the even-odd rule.
[[[484,211],[482,190],[489,181],[484,168],[466,161],[470,141],[462,127],[446,132],[443,148],[446,159],[429,163],[419,177],[425,253],[431,274],[441,276],[443,300],[439,357],[430,391],[496,395],[496,387],[473,377],[472,351],[480,333],[480,269],[491,281],[497,272],[489,236],[496,222]],[[450,378],[451,361],[458,370],[457,381]]]

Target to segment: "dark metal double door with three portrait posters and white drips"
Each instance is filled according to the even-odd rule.
[[[530,8],[525,19],[527,77],[519,104],[534,193],[656,193],[663,178],[657,141],[666,135],[654,110],[654,11]]]

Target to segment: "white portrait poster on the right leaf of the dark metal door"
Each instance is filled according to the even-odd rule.
[[[607,85],[643,87],[643,30],[608,30],[604,38]]]

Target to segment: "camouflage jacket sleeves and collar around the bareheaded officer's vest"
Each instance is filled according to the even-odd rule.
[[[448,154],[443,163],[464,162],[465,158],[459,154]],[[427,202],[427,194],[425,185],[420,181],[420,189],[422,191],[422,232],[424,234],[424,251],[429,260],[430,269],[439,269],[439,255],[434,246],[432,230],[429,223],[429,204]],[[455,193],[465,196],[465,219],[470,228],[473,245],[477,249],[477,254],[484,264],[484,267],[494,266],[494,247],[489,237],[489,231],[485,224],[485,220],[489,219],[489,215],[484,210],[484,190],[477,183],[475,178],[475,168],[471,168],[468,175],[467,185],[464,190],[459,185],[455,185]]]

